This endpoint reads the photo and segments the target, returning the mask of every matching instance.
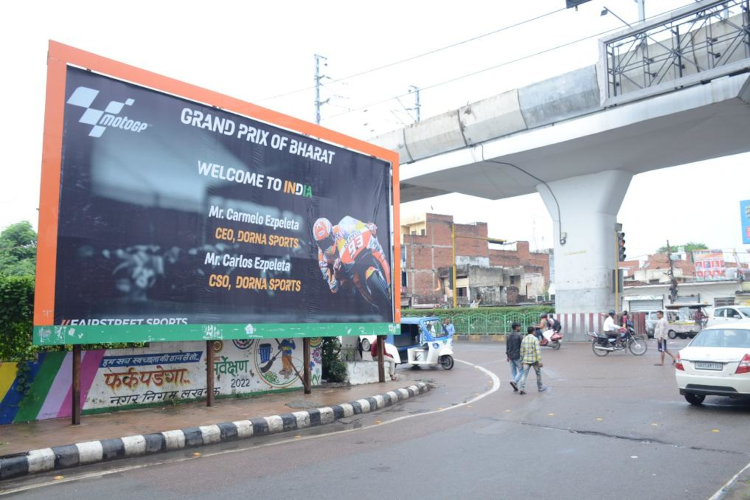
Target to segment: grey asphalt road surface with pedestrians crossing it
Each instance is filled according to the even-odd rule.
[[[520,396],[508,384],[504,344],[460,343],[452,371],[405,375],[433,391],[392,408],[0,488],[56,500],[709,498],[750,462],[750,403],[688,405],[674,369],[654,366],[655,347],[605,358],[585,343],[545,349],[549,391],[536,391],[532,371]]]

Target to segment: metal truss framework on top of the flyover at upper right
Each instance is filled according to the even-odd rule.
[[[704,0],[601,40],[606,96],[647,96],[750,67],[750,0]],[[690,84],[691,82],[683,82]],[[649,92],[651,90],[651,92]]]

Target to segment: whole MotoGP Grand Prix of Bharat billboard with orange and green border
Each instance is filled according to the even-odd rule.
[[[49,54],[35,343],[394,330],[395,153]]]

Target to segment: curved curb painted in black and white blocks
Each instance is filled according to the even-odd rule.
[[[429,390],[430,386],[423,382],[417,382],[403,389],[324,408],[155,434],[53,446],[52,448],[32,450],[26,453],[6,455],[0,457],[0,481],[39,472],[69,469],[121,458],[153,455],[183,448],[195,448],[208,444],[247,439],[253,436],[267,436],[279,432],[331,424],[342,418],[391,406]]]

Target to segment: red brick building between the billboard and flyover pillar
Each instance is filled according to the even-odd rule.
[[[549,254],[529,243],[498,246],[487,224],[455,224],[453,216],[425,214],[401,221],[402,305],[452,303],[455,227],[457,302],[506,305],[536,300],[549,285]]]

